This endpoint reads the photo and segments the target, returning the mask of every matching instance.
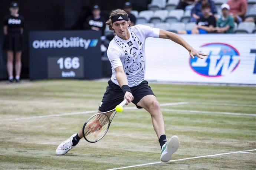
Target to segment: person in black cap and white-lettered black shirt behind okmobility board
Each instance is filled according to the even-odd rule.
[[[86,30],[101,31],[101,35],[104,35],[106,28],[105,19],[101,17],[101,9],[98,5],[93,6],[92,15],[87,17],[84,23]]]

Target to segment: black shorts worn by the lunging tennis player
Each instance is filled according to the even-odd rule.
[[[132,103],[137,106],[137,103],[147,95],[154,95],[147,81],[142,81],[138,86],[131,87],[132,95],[134,99]],[[120,104],[124,100],[124,92],[120,86],[114,84],[111,80],[108,81],[108,86],[106,87],[106,92],[102,98],[101,104],[99,106],[99,111],[107,112],[115,108],[116,105]],[[138,109],[142,109],[137,106]]]

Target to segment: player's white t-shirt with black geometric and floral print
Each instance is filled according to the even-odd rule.
[[[112,67],[112,82],[119,85],[115,68],[122,66],[129,87],[133,87],[139,85],[145,77],[145,40],[148,37],[159,38],[160,29],[136,25],[129,27],[128,30],[131,35],[130,38],[123,40],[115,36],[109,43],[107,54]]]

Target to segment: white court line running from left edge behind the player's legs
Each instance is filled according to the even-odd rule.
[[[160,104],[160,106],[184,105],[187,103],[189,103],[189,102],[163,103],[163,104]],[[128,110],[128,109],[137,109],[137,108],[136,107],[124,107],[124,110]],[[60,114],[42,115],[42,116],[29,116],[29,117],[13,118],[13,119],[1,119],[0,122],[14,121],[14,120],[51,118],[51,117],[70,116],[70,115],[82,115],[82,114],[88,114],[88,113],[97,113],[97,110],[91,110],[91,111],[86,111],[86,112],[60,113]]]

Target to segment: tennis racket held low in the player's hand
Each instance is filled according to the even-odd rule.
[[[126,99],[122,101],[119,105],[124,106],[126,103]],[[106,113],[111,113],[109,116]],[[102,139],[108,132],[110,123],[112,122],[114,116],[116,114],[116,110],[112,109],[107,112],[97,113],[91,118],[89,118],[85,124],[83,125],[83,137],[86,141],[95,143]]]

